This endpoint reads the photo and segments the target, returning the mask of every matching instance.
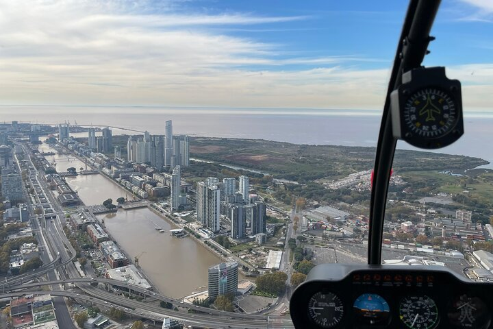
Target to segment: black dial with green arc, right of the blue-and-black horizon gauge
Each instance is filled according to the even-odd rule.
[[[438,325],[438,308],[427,295],[404,297],[399,317],[407,328],[432,329]]]

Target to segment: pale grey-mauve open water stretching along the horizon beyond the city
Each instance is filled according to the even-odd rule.
[[[493,112],[466,112],[466,133],[440,153],[476,156],[493,163]],[[312,145],[377,145],[381,111],[289,108],[163,108],[112,106],[0,106],[0,121],[110,125],[164,134],[173,120],[174,134],[259,138]],[[132,134],[132,132],[126,132]],[[402,149],[415,149],[398,143]],[[487,168],[493,168],[490,163]]]

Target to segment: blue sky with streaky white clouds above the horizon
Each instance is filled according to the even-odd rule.
[[[0,0],[0,104],[375,110],[407,1]],[[427,66],[490,111],[493,1],[444,0]]]

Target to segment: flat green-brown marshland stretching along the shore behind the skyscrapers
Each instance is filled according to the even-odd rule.
[[[296,145],[252,139],[190,138],[190,156],[258,169],[297,182],[342,178],[371,169],[375,147]],[[394,170],[472,169],[485,160],[450,154],[397,150]]]

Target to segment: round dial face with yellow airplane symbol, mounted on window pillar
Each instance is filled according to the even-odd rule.
[[[424,88],[407,97],[403,119],[411,134],[438,138],[451,132],[457,123],[455,103],[438,88]]]

